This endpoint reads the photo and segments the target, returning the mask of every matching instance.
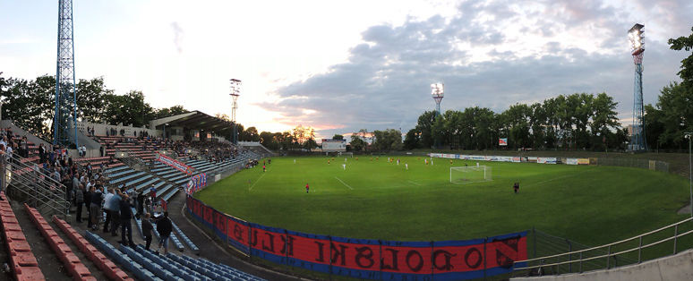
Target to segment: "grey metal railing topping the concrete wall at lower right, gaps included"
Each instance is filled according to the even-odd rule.
[[[654,246],[665,246],[664,243],[670,241],[673,242],[672,253],[676,254],[678,252],[677,247],[680,246],[680,237],[693,234],[693,224],[687,225],[687,223],[690,222],[693,222],[693,217],[689,217],[678,223],[663,226],[645,234],[640,234],[614,243],[534,259],[518,260],[516,261],[516,264],[526,264],[526,266],[516,267],[513,271],[513,276],[518,277],[582,273],[591,270],[620,267],[623,265],[636,263],[635,260],[637,260],[637,263],[640,263],[643,260],[646,260],[646,257],[643,255],[644,250]],[[665,234],[666,230],[672,228],[673,234]],[[681,231],[683,232],[681,233]],[[647,241],[648,239],[652,241]],[[667,252],[664,249],[657,250],[658,251],[655,251],[654,255],[652,255],[653,258],[661,257],[663,253]],[[621,259],[619,259],[619,257],[621,257]],[[633,261],[630,262],[630,260]]]

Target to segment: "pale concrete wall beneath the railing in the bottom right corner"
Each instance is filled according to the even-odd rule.
[[[693,280],[693,249],[657,260],[648,260],[641,264],[609,270],[595,270],[582,274],[565,274],[549,277],[518,277],[511,280]]]

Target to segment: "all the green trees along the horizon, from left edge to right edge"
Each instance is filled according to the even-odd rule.
[[[693,28],[691,29],[693,31]],[[693,50],[693,34],[671,38],[672,50]],[[663,87],[654,105],[645,106],[645,134],[649,149],[685,149],[683,132],[693,132],[693,52],[681,61],[681,81]],[[25,130],[52,138],[56,79],[43,75],[36,80],[4,78],[0,72],[0,99],[4,119],[13,119]],[[125,95],[107,89],[103,78],[77,83],[77,118],[92,123],[133,124],[140,127],[153,119],[188,112],[183,106],[153,108],[144,94]],[[515,104],[501,113],[487,107],[467,107],[438,114],[426,111],[415,128],[366,129],[351,134],[350,149],[498,149],[498,139],[507,138],[511,149],[626,149],[629,132],[619,123],[618,104],[606,93],[575,93],[533,104]],[[217,115],[228,120],[227,115]],[[239,140],[260,141],[269,149],[313,149],[315,132],[301,125],[286,132],[258,132],[238,124]],[[343,139],[342,135],[334,138]]]

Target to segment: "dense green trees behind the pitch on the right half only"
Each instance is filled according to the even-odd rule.
[[[668,43],[672,50],[691,51],[693,34],[671,38]],[[663,87],[655,105],[645,106],[648,149],[680,150],[688,145],[683,132],[693,132],[693,53],[681,61],[678,74],[681,82]],[[478,106],[442,114],[426,111],[415,128],[406,132],[401,148],[498,149],[499,139],[507,138],[510,149],[622,150],[628,145],[629,124],[619,123],[617,105],[606,93],[575,93],[530,105],[515,104],[500,114]],[[376,133],[368,145],[364,132],[352,134],[352,149],[399,146],[382,145],[387,141],[380,141],[385,137]]]

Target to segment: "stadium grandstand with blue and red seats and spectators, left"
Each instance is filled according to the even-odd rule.
[[[148,128],[77,127],[80,146],[67,149],[0,122],[4,279],[291,278],[219,255],[223,249],[182,212],[186,192],[252,168],[270,150],[257,142],[234,145],[221,136],[231,123],[199,111],[153,120]],[[163,217],[170,226],[159,226],[168,228],[162,233]],[[131,224],[128,234],[123,225]],[[157,239],[145,250],[152,233]],[[170,244],[162,248],[166,233]]]

